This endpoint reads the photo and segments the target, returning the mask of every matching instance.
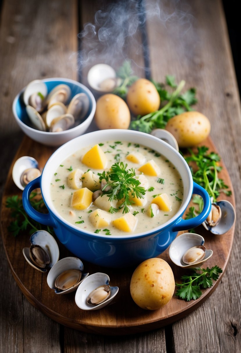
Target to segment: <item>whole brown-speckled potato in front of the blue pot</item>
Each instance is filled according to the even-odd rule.
[[[163,259],[145,260],[131,277],[131,297],[142,309],[156,310],[164,306],[172,298],[174,289],[172,269]]]

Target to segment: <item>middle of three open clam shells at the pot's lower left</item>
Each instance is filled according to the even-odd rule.
[[[49,288],[54,289],[56,294],[66,294],[66,293],[70,293],[73,292],[77,289],[77,287],[80,285],[80,283],[89,275],[88,273],[85,274],[81,274],[80,280],[73,282],[73,285],[70,288],[67,289],[58,289],[55,286],[55,281],[56,279],[58,279],[59,276],[62,276],[62,278],[59,277],[58,280],[58,287],[64,288],[65,283],[68,281],[68,275],[66,271],[69,271],[69,279],[71,277],[71,281],[72,279],[75,280],[76,278],[76,274],[73,274],[71,270],[76,269],[79,271],[83,271],[83,263],[80,259],[78,259],[77,257],[65,257],[61,260],[59,260],[49,271],[48,276],[47,276],[47,283]],[[62,282],[63,284],[61,285]]]

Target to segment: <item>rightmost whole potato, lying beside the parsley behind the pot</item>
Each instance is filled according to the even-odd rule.
[[[208,118],[199,112],[185,112],[171,118],[166,130],[176,138],[178,146],[193,147],[205,140],[211,130]]]

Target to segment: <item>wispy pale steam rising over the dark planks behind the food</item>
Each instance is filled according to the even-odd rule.
[[[173,24],[176,24],[175,28],[178,24],[178,36],[185,35],[192,26],[192,15],[188,14],[187,8],[184,9],[186,5],[183,3],[180,10],[180,4],[176,0],[148,0],[144,5],[142,0],[129,0],[110,4],[106,11],[97,11],[94,23],[84,24],[83,31],[78,35],[81,39],[79,69],[96,63],[109,64],[116,69],[133,56],[136,65],[148,66],[148,21],[159,21],[168,31],[173,31]]]

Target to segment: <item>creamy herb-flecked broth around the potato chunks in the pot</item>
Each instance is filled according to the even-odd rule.
[[[134,214],[137,219],[137,224],[133,231],[130,233],[123,232],[112,225],[113,220],[123,216],[122,209],[120,209],[117,213],[108,213],[111,218],[110,224],[102,229],[97,229],[93,226],[92,222],[90,222],[89,216],[93,211],[98,209],[98,207],[96,207],[93,203],[84,210],[77,210],[71,207],[71,198],[75,190],[69,187],[68,177],[71,171],[77,168],[81,169],[83,172],[87,172],[91,169],[96,175],[97,173],[102,173],[103,169],[90,168],[81,162],[82,156],[86,154],[86,152],[90,150],[93,145],[84,147],[74,152],[61,163],[51,179],[51,198],[53,205],[58,214],[60,214],[66,221],[79,227],[80,229],[85,229],[90,232],[107,235],[127,235],[142,233],[156,228],[170,220],[171,217],[177,213],[183,199],[183,183],[180,174],[174,165],[169,162],[169,160],[161,156],[158,152],[135,143],[125,141],[108,141],[104,144],[100,143],[99,145],[107,157],[107,166],[105,168],[106,171],[110,170],[114,163],[122,161],[124,164],[128,164],[128,169],[134,168],[136,175],[140,175],[142,173],[140,173],[137,169],[149,160],[154,160],[160,169],[160,173],[157,176],[149,176],[145,174],[145,177],[148,180],[148,184],[145,185],[145,204],[141,206],[133,204],[130,207],[130,212]],[[141,163],[133,163],[126,158],[128,154],[136,152],[143,156]],[[155,195],[163,193],[166,193],[168,199],[170,200],[171,210],[159,210],[157,215],[151,217],[148,212],[148,207],[153,201]],[[114,203],[114,206],[117,207],[116,203]],[[103,229],[105,229],[105,231]]]

